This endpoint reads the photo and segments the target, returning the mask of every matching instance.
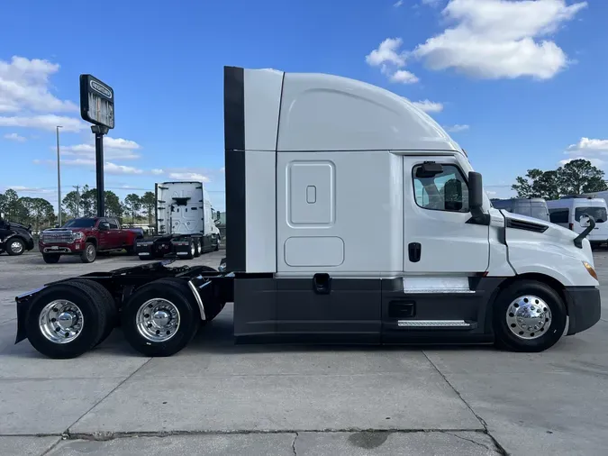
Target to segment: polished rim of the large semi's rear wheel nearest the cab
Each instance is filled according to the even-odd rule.
[[[137,330],[150,342],[167,342],[179,328],[177,306],[160,297],[143,303],[135,316]]]

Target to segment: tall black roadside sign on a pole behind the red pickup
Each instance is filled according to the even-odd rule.
[[[95,134],[95,177],[97,216],[105,216],[104,205],[104,135],[114,128],[114,91],[91,75],[80,75],[80,115],[93,123]]]

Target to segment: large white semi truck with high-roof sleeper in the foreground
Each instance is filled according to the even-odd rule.
[[[75,357],[121,310],[136,350],[168,356],[227,302],[253,341],[543,351],[600,319],[594,221],[579,234],[492,208],[466,153],[402,96],[230,67],[224,121],[219,270],[159,261],[47,284],[16,298],[16,342]]]

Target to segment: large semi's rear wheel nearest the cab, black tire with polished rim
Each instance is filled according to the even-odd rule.
[[[164,302],[150,303],[153,299]],[[153,306],[150,311],[159,306],[156,313],[167,315],[164,319],[167,322],[145,313],[148,306]],[[138,324],[139,317],[141,324]],[[200,327],[201,315],[185,280],[161,278],[140,287],[132,295],[123,307],[121,321],[124,337],[133,349],[145,356],[165,357],[186,347]],[[170,333],[163,334],[166,331]]]

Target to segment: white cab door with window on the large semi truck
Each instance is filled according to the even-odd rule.
[[[425,171],[434,160],[439,170]],[[489,226],[467,223],[467,173],[453,157],[404,157],[404,271],[472,276],[488,268]]]

